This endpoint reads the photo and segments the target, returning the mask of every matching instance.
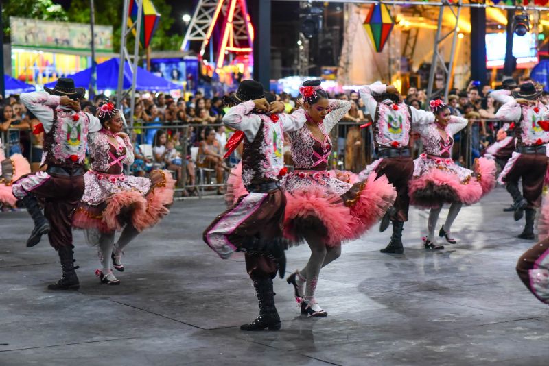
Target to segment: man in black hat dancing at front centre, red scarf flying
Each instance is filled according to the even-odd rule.
[[[270,105],[266,97],[272,97]],[[282,224],[286,200],[279,188],[279,178],[285,174],[283,138],[284,131],[298,130],[306,119],[299,111],[292,116],[277,114],[284,110],[283,103],[274,102],[274,96],[264,93],[263,86],[254,80],[241,82],[235,95],[227,100],[235,106],[225,114],[223,122],[238,130],[227,145],[235,148],[238,139],[244,141],[242,183],[249,194],[240,197],[233,208],[209,225],[204,241],[224,259],[233,252],[246,253],[246,269],[257,292],[259,317],[240,329],[279,330],[272,278],[277,270],[283,277],[285,269]]]

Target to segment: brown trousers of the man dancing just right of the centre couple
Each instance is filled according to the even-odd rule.
[[[408,182],[414,174],[414,160],[412,158],[383,158],[375,169],[378,176],[386,175],[390,184],[397,190],[395,200],[396,212],[390,219],[392,221],[408,221],[408,208],[410,208],[410,197],[408,197]]]

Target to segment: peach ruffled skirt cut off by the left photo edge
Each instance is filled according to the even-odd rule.
[[[0,204],[15,207],[17,199],[12,193],[12,183],[21,176],[30,173],[30,165],[21,154],[4,156],[4,148],[0,140]]]

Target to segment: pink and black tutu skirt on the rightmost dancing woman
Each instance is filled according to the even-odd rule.
[[[495,186],[495,162],[478,158],[475,170],[458,166],[452,159],[421,154],[414,160],[414,176],[408,184],[410,203],[422,208],[460,202],[474,204]]]

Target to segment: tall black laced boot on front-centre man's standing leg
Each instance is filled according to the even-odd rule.
[[[272,280],[270,278],[259,278],[253,280],[253,286],[257,293],[259,302],[259,317],[248,324],[240,326],[240,330],[279,330],[280,317],[277,308],[274,307],[274,292],[272,291]]]

